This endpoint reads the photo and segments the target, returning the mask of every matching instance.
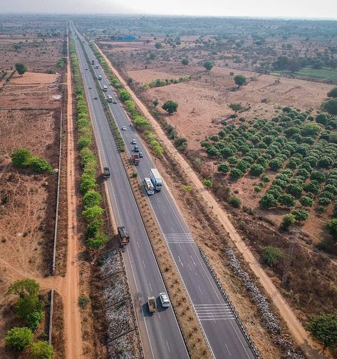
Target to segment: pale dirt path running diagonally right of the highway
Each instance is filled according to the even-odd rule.
[[[239,233],[237,233],[234,226],[229,221],[227,213],[219,205],[219,203],[217,203],[214,196],[212,196],[212,193],[209,193],[209,191],[207,191],[207,189],[204,187],[202,182],[195,174],[195,171],[193,171],[193,169],[190,167],[189,163],[187,163],[185,158],[172,145],[171,141],[167,138],[164,131],[162,131],[162,128],[160,127],[159,123],[157,123],[155,118],[153,118],[150,112],[147,111],[145,105],[140,101],[140,99],[135,95],[135,93],[133,93],[133,91],[130,89],[128,84],[126,84],[126,82],[124,81],[123,77],[120,76],[118,71],[113,68],[107,56],[103,54],[103,51],[100,51],[100,54],[103,55],[105,61],[107,61],[107,63],[109,64],[110,69],[113,71],[115,76],[118,77],[119,81],[123,84],[123,86],[125,86],[125,89],[127,89],[130,92],[131,96],[133,97],[133,101],[137,103],[137,105],[139,106],[140,110],[145,115],[145,117],[148,120],[150,120],[152,127],[155,128],[158,138],[160,138],[160,140],[163,143],[165,143],[165,147],[167,148],[167,151],[170,153],[170,156],[172,156],[172,158],[175,158],[177,163],[180,163],[180,165],[182,166],[182,168],[184,169],[187,175],[187,178],[190,178],[190,181],[192,181],[192,183],[195,185],[198,191],[202,194],[204,200],[207,201],[209,206],[212,208],[212,211],[219,219],[219,222],[222,223],[224,228],[226,228],[230,238],[232,239],[232,242],[240,251],[240,253],[242,253],[244,260],[247,261],[249,267],[252,269],[256,277],[259,278],[259,281],[261,285],[264,287],[264,290],[266,290],[266,292],[269,294],[271,298],[271,301],[279,310],[281,317],[286,322],[286,325],[288,325],[291,335],[293,336],[296,343],[299,346],[301,346],[301,349],[304,350],[304,353],[306,353],[306,355],[309,356],[309,358],[321,357],[321,354],[319,353],[321,348],[318,345],[316,345],[316,343],[313,342],[309,333],[306,332],[303,325],[301,325],[301,322],[296,318],[296,315],[293,312],[293,310],[286,303],[286,300],[284,300],[281,293],[279,293],[279,290],[271,281],[271,278],[269,278],[269,276],[264,272],[263,268],[261,268],[259,262],[256,261],[256,258],[254,258],[252,252],[249,250],[246,243],[242,241],[242,238],[239,236]]]

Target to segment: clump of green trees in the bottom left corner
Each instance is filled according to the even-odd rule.
[[[21,352],[28,351],[29,358],[50,359],[53,347],[45,340],[33,343],[35,332],[43,318],[43,300],[40,295],[40,285],[32,279],[16,280],[9,286],[7,294],[17,295],[16,315],[23,320],[25,326],[8,330],[5,336],[9,348]]]

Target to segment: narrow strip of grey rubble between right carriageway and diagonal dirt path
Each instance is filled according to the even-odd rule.
[[[260,310],[263,325],[274,334],[274,343],[279,345],[284,351],[282,358],[300,359],[304,358],[303,355],[298,353],[290,340],[284,338],[281,335],[281,326],[278,318],[272,313],[270,305],[264,295],[261,294],[259,288],[254,284],[253,280],[249,277],[249,274],[241,268],[241,264],[237,259],[234,251],[231,248],[226,248],[224,253],[229,258],[229,266],[234,273],[242,280],[244,286],[247,288],[249,295],[256,303]]]

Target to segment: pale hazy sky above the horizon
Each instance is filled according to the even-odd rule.
[[[0,12],[337,19],[336,0],[1,0]]]

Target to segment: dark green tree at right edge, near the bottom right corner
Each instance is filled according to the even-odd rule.
[[[337,348],[337,312],[314,315],[309,321],[308,329],[325,348]]]

